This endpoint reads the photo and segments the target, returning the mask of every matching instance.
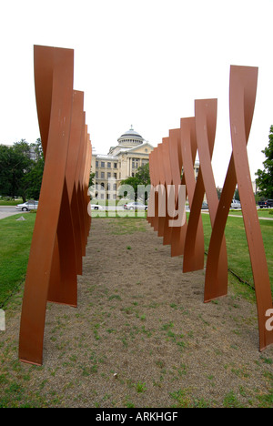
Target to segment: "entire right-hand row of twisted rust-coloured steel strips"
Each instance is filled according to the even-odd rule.
[[[180,129],[170,130],[169,137],[163,140],[163,144],[169,147],[169,157],[166,156],[166,151],[162,156],[161,148],[158,150],[158,147],[155,149],[156,154],[154,151],[150,155],[150,171],[153,181],[157,184],[163,182],[166,186],[171,181],[171,184],[175,185],[176,194],[180,184],[186,185],[190,206],[188,222],[181,228],[166,228],[167,243],[171,244],[172,255],[184,254],[184,272],[204,268],[201,207],[205,193],[207,195],[212,233],[207,254],[205,302],[227,295],[227,248],[224,233],[231,200],[238,185],[257,296],[259,349],[264,350],[273,343],[273,332],[266,328],[267,312],[272,309],[272,295],[247,153],[257,80],[256,67],[230,67],[229,110],[233,152],[220,200],[217,198],[211,167],[217,125],[217,99],[196,100],[195,117],[182,118]],[[200,168],[196,181],[194,163],[197,152]],[[154,179],[157,173],[159,174],[159,168],[161,176]],[[155,193],[157,194],[157,189]],[[155,212],[157,215],[157,209]],[[149,218],[149,221],[155,224],[157,218]]]

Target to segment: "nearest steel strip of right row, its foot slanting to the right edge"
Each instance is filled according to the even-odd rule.
[[[266,329],[266,312],[272,309],[268,264],[258,222],[258,212],[248,166],[247,138],[255,105],[258,68],[230,67],[229,111],[233,157],[238,179],[248,249],[255,283],[260,350],[273,343],[273,332]],[[247,133],[247,135],[246,135]]]

